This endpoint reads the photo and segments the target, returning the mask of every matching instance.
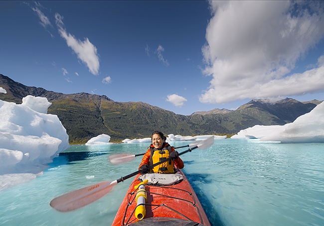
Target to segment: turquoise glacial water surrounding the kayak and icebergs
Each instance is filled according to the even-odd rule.
[[[123,165],[112,165],[108,156],[144,153],[148,145],[71,145],[35,180],[0,191],[0,225],[110,226],[132,179],[73,212],[57,212],[49,202],[136,171],[141,156]],[[225,139],[181,158],[183,172],[214,226],[324,225],[324,144]]]

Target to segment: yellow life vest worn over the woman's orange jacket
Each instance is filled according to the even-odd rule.
[[[157,162],[161,162],[162,160],[169,157],[171,152],[171,146],[169,144],[165,145],[162,150],[151,147],[151,157],[150,157],[150,165],[153,165]],[[174,173],[174,161],[169,160],[161,163],[160,165],[151,169],[151,173]]]

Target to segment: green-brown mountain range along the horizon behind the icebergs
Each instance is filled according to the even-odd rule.
[[[312,111],[322,101],[299,102],[286,98],[274,104],[252,100],[235,111],[213,109],[191,115],[175,114],[143,102],[115,102],[106,96],[87,93],[62,94],[28,87],[0,74],[0,100],[21,104],[27,95],[46,97],[48,113],[58,115],[70,143],[85,143],[105,133],[111,141],[149,137],[154,130],[165,134],[234,134],[259,125],[283,125]]]

